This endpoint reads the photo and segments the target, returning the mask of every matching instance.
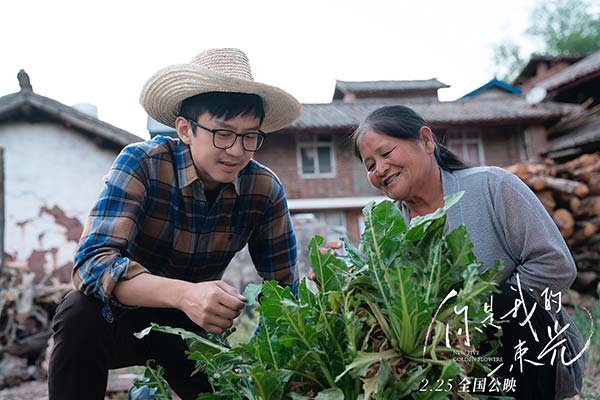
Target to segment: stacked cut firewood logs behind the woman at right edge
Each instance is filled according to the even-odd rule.
[[[563,164],[526,162],[507,168],[540,199],[577,264],[573,287],[596,292],[600,281],[600,153]]]

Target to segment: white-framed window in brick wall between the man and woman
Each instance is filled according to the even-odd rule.
[[[331,135],[299,138],[298,174],[302,178],[335,177],[335,157]]]

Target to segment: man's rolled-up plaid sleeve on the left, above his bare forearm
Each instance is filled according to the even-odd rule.
[[[130,243],[144,219],[147,190],[142,159],[143,152],[133,146],[116,158],[75,253],[75,288],[103,303],[112,299],[119,281],[147,272],[128,258]]]

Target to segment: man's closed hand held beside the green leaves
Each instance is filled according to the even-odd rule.
[[[246,298],[223,281],[200,282],[188,285],[181,293],[178,307],[201,328],[222,333],[231,328]]]

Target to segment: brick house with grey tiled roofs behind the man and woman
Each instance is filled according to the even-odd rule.
[[[368,183],[348,141],[369,112],[386,104],[407,105],[459,156],[476,165],[503,166],[538,154],[546,146],[546,127],[576,109],[559,103],[532,106],[499,83],[440,102],[437,91],[445,87],[436,79],[338,81],[330,103],[304,104],[302,117],[270,135],[255,159],[284,183],[297,226],[307,218],[317,220],[326,239],[344,235],[357,243],[362,208],[384,199]],[[148,128],[151,136],[174,134],[156,121],[149,120]]]

